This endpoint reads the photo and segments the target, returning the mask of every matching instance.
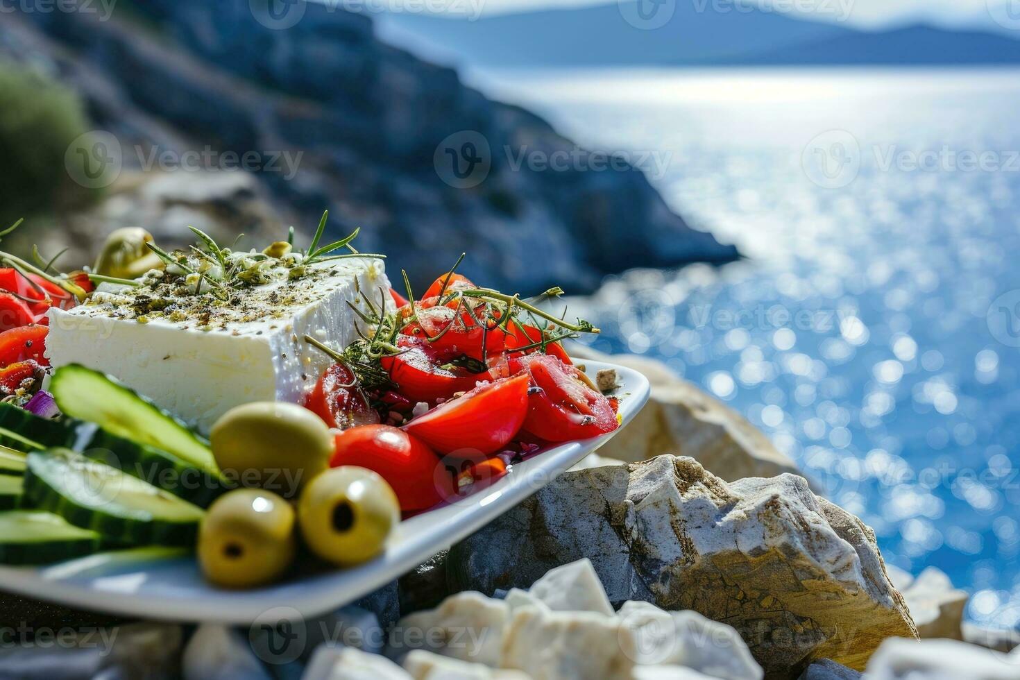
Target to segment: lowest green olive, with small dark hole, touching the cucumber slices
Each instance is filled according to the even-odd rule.
[[[294,561],[294,508],[269,491],[240,488],[216,499],[198,534],[205,577],[224,588],[278,579]]]

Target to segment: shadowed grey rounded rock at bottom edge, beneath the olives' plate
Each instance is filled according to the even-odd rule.
[[[269,680],[248,640],[226,626],[199,626],[181,665],[185,680]]]

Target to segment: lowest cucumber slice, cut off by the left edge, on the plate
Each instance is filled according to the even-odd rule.
[[[95,531],[68,524],[51,513],[9,510],[0,513],[0,563],[37,565],[92,555],[99,550]]]

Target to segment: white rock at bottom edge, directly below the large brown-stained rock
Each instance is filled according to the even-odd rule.
[[[683,666],[723,680],[761,680],[764,675],[737,632],[697,612],[664,612],[642,601],[619,611],[638,639],[641,664]]]

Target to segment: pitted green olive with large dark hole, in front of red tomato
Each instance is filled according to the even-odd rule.
[[[400,522],[397,494],[371,470],[344,466],[313,479],[298,503],[305,544],[328,562],[353,567],[382,552]]]

